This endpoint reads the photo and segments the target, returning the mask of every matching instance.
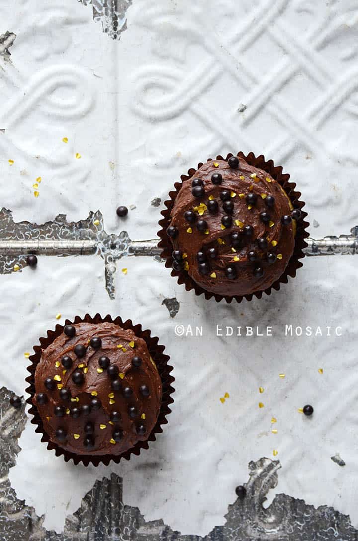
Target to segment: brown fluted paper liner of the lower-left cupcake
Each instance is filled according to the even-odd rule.
[[[138,443],[134,447],[120,455],[104,454],[91,456],[90,454],[83,454],[79,456],[75,453],[65,451],[60,445],[57,445],[50,441],[48,434],[44,430],[42,419],[38,413],[37,407],[32,404],[32,398],[34,397],[36,392],[35,371],[36,366],[41,359],[42,350],[47,348],[55,340],[55,338],[62,334],[65,325],[72,325],[83,321],[88,323],[100,323],[102,321],[108,321],[122,327],[125,330],[130,329],[131,331],[133,331],[138,338],[142,338],[147,344],[148,351],[151,355],[151,358],[156,364],[158,373],[162,381],[162,404],[160,408],[160,413],[158,415],[157,422],[153,430],[149,434],[149,438],[145,441],[138,441]],[[47,443],[47,448],[49,451],[55,450],[56,457],[62,455],[66,462],[69,460],[73,460],[74,464],[82,462],[84,466],[88,466],[88,464],[93,464],[94,466],[98,466],[98,464],[105,464],[106,466],[108,466],[111,460],[114,463],[118,464],[120,460],[129,460],[132,454],[138,456],[142,449],[148,449],[149,442],[156,440],[156,434],[163,432],[162,425],[168,423],[167,415],[169,415],[169,413],[171,412],[169,404],[174,402],[173,398],[171,397],[171,394],[174,392],[174,388],[171,386],[174,381],[174,377],[170,375],[173,367],[168,364],[169,356],[164,355],[164,346],[158,345],[158,338],[151,337],[149,330],[143,331],[140,324],[134,325],[130,319],[127,319],[127,321],[123,321],[120,316],[112,319],[110,315],[106,315],[104,318],[102,318],[101,314],[96,314],[94,317],[92,317],[90,314],[85,314],[83,318],[80,318],[78,315],[76,315],[73,321],[70,321],[69,319],[65,320],[65,324],[63,326],[56,325],[55,331],[48,331],[47,338],[40,338],[39,342],[39,346],[34,346],[35,354],[29,357],[31,365],[27,368],[27,370],[30,372],[30,375],[26,378],[26,381],[29,383],[29,387],[26,388],[26,392],[28,392],[30,396],[26,400],[26,402],[31,406],[29,409],[29,413],[32,415],[31,423],[37,425],[35,432],[42,434],[41,441],[43,443]]]

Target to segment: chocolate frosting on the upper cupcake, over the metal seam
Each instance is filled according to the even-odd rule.
[[[170,226],[177,229],[176,236],[170,240],[174,250],[181,250],[184,253],[185,271],[206,291],[230,296],[262,291],[279,279],[293,254],[296,230],[294,221],[289,225],[281,223],[281,217],[290,215],[293,207],[279,182],[266,171],[250,166],[241,157],[238,157],[238,161],[237,169],[230,168],[228,162],[224,160],[209,160],[203,164],[190,179],[183,181],[170,214]],[[213,184],[211,181],[211,175],[214,173],[222,175],[221,184]],[[193,179],[203,181],[205,190],[203,197],[194,197],[191,193]],[[224,229],[221,219],[228,213],[224,212],[220,198],[223,190],[229,190],[230,201],[234,203],[233,213],[230,214],[233,225]],[[246,195],[250,193],[257,195],[257,200],[251,208],[246,201]],[[264,198],[268,195],[275,198],[273,208],[267,207],[264,203]],[[218,212],[210,213],[206,208],[209,197],[217,201]],[[188,223],[185,220],[184,213],[187,210],[195,210],[196,222]],[[270,223],[261,221],[261,212],[270,214]],[[206,232],[197,230],[198,220],[207,222]],[[243,235],[244,226],[253,227],[252,236]],[[230,241],[231,233],[240,233],[239,248],[233,249]],[[266,249],[258,247],[258,239],[267,239]],[[203,275],[199,271],[197,253],[207,253],[210,248],[217,249],[217,256],[215,259],[207,258],[210,272]],[[250,250],[254,250],[258,255],[258,261],[255,263],[248,260],[247,254]],[[267,261],[267,253],[277,256],[273,264]],[[260,277],[254,275],[254,268],[257,265],[263,268],[263,275]],[[227,267],[234,267],[235,279],[227,278]]]

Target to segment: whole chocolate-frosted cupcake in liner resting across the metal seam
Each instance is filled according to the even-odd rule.
[[[295,276],[308,223],[288,179],[252,153],[218,156],[183,175],[158,233],[178,283],[230,302],[269,294]]]

